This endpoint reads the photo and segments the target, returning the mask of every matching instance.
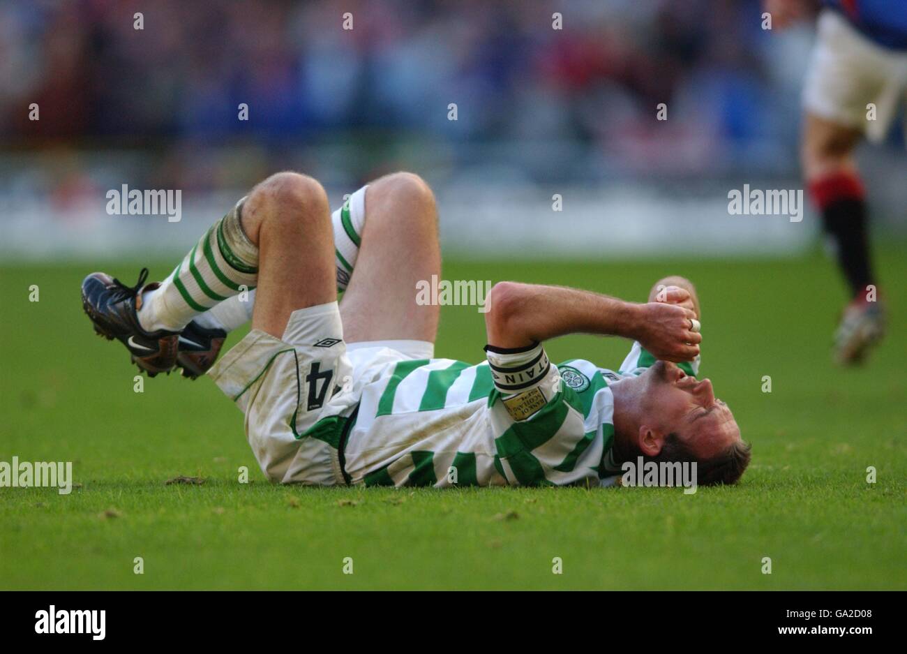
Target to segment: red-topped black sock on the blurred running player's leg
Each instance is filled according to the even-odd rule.
[[[873,283],[863,182],[853,172],[834,172],[809,184],[822,211],[825,232],[834,239],[838,266],[851,295],[864,294]]]

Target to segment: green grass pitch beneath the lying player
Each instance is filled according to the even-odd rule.
[[[691,263],[445,264],[445,278],[516,278],[639,298],[697,281],[703,373],[754,445],[737,487],[311,489],[263,481],[242,416],[207,380],[145,381],[94,337],[78,298],[102,268],[0,268],[0,461],[72,461],[81,486],[0,488],[4,589],[903,589],[907,587],[907,260],[880,268],[891,336],[842,371],[829,344],[843,291],[824,258]],[[160,262],[151,278],[171,266]],[[40,301],[28,301],[29,286]],[[230,338],[235,342],[238,335]],[[439,356],[478,361],[482,315],[445,307]],[[619,339],[570,337],[552,360],[618,366]],[[772,393],[762,392],[771,376]],[[237,483],[239,466],[252,483]],[[878,482],[866,483],[873,465]],[[164,485],[176,475],[200,486]],[[144,574],[133,573],[142,557]],[[772,574],[762,573],[771,557]],[[353,574],[344,574],[345,557]],[[552,560],[560,557],[560,575]]]

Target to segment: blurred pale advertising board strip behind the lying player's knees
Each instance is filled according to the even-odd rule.
[[[332,206],[348,190],[328,189]],[[447,254],[478,259],[787,255],[814,242],[815,222],[736,216],[724,187],[678,197],[648,186],[610,188],[463,187],[435,189]],[[180,221],[166,215],[109,215],[102,194],[60,206],[0,197],[6,260],[130,259],[179,256],[242,190],[181,193]],[[561,196],[555,210],[555,194]]]

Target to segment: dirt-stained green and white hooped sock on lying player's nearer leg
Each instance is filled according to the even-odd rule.
[[[211,226],[160,287],[142,294],[142,328],[180,331],[219,302],[255,288],[258,247],[242,230],[244,200]]]

